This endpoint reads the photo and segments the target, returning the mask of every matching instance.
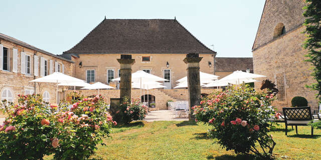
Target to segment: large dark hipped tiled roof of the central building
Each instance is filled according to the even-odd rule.
[[[216,53],[176,19],[104,19],[64,53]]]

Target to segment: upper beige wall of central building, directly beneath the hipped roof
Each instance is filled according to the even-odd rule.
[[[150,61],[142,61],[142,56],[150,56]],[[213,54],[200,54],[203,59],[200,62],[200,71],[211,73],[214,72],[214,66],[209,67],[209,61],[213,64]],[[171,69],[171,84],[175,87],[176,80],[187,75],[187,64],[183,61],[186,54],[132,54],[135,63],[132,65],[132,72],[141,69],[150,69],[150,73],[159,77],[164,77],[164,69]],[[107,83],[107,69],[114,70],[114,77],[118,77],[120,64],[116,60],[120,54],[79,54],[75,58],[75,77],[86,80],[86,70],[95,70],[95,81]],[[78,65],[82,62],[82,66]],[[169,62],[169,67],[166,66]],[[114,84],[111,84],[114,85]],[[114,85],[115,86],[115,85]]]

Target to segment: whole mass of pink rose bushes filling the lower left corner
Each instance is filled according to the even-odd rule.
[[[87,159],[117,124],[98,95],[71,99],[71,105],[49,105],[40,95],[19,97],[16,105],[3,101],[9,116],[0,125],[0,159]]]

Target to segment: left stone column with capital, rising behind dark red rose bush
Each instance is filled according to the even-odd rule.
[[[131,55],[121,54],[120,59],[120,98],[124,96],[131,98],[131,65],[135,63],[135,59]]]

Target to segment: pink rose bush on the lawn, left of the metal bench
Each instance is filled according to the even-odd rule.
[[[225,91],[212,93],[192,109],[196,121],[213,126],[209,135],[227,150],[270,158],[275,145],[268,134],[273,127],[268,118],[275,115],[270,108],[273,99],[273,94],[258,93],[242,84],[238,89],[230,86]],[[263,153],[258,151],[257,144]]]

